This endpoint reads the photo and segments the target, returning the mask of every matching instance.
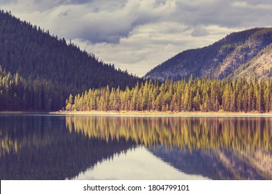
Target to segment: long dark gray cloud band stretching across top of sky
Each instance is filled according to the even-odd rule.
[[[32,0],[33,3],[31,0],[17,0],[11,2],[10,8],[14,7],[15,12],[20,12],[20,8],[21,13],[28,16],[26,19],[31,20],[31,17],[34,15],[37,17],[40,12],[40,17],[51,21],[45,22],[44,28],[49,28],[65,37],[85,39],[92,43],[117,44],[122,37],[128,37],[136,26],[156,22],[176,21],[194,29],[192,36],[203,36],[209,34],[205,26],[217,25],[228,28],[267,26],[272,17],[270,13],[272,3],[266,0],[257,3],[254,0]],[[0,5],[6,3],[8,2],[1,1]],[[24,6],[26,8],[23,9]],[[42,19],[37,25],[44,25]],[[62,30],[64,28],[65,30]]]

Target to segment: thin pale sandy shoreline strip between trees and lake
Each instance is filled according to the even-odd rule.
[[[121,111],[121,112],[105,112],[105,111],[78,111],[78,112],[12,112],[3,111],[0,114],[59,114],[59,115],[105,115],[105,116],[262,116],[272,117],[272,113],[258,113],[258,112],[132,112],[132,111]]]

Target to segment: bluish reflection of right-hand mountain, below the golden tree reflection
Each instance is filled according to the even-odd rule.
[[[223,150],[165,149],[162,145],[149,150],[164,162],[190,175],[203,175],[210,179],[264,179],[242,158]]]

